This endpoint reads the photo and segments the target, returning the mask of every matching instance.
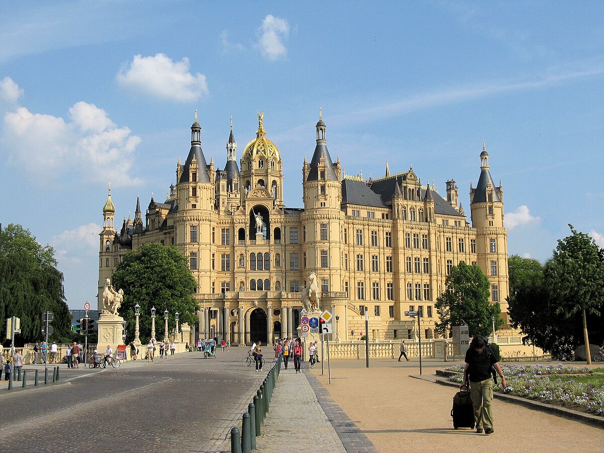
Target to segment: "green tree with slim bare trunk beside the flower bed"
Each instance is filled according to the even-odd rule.
[[[591,364],[587,315],[600,316],[604,300],[604,251],[594,239],[568,224],[571,236],[558,240],[553,259],[545,269],[544,283],[550,291],[550,303],[558,315],[582,317],[587,364]]]

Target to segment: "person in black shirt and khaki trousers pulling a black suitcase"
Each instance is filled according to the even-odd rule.
[[[501,385],[505,388],[506,377],[501,371],[493,350],[486,344],[483,337],[475,336],[466,352],[466,367],[463,370],[463,382],[459,388],[462,390],[468,384],[470,385],[476,432],[481,433],[484,429],[484,434],[491,434],[494,431],[491,406],[494,384],[491,377],[492,367],[501,377]]]

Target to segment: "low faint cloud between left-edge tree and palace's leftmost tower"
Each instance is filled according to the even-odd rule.
[[[102,229],[101,225],[88,223],[53,236],[50,245],[56,251],[57,261],[79,264],[82,257],[98,255],[98,233]]]

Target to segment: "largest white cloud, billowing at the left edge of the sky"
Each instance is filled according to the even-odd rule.
[[[118,186],[141,182],[129,174],[141,138],[128,127],[117,127],[94,104],[74,104],[68,120],[19,106],[4,114],[2,126],[0,143],[8,161],[40,185],[65,173]]]

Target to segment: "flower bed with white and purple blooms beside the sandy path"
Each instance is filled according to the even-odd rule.
[[[463,365],[454,365],[445,368],[446,371],[463,373]],[[584,384],[562,379],[550,379],[556,374],[584,374],[593,373],[588,368],[577,368],[562,364],[551,365],[501,365],[506,376],[507,387],[495,388],[495,391],[508,393],[527,399],[534,399],[544,403],[552,403],[571,409],[604,416],[604,388],[592,384]],[[463,374],[454,374],[450,381],[461,384]]]

